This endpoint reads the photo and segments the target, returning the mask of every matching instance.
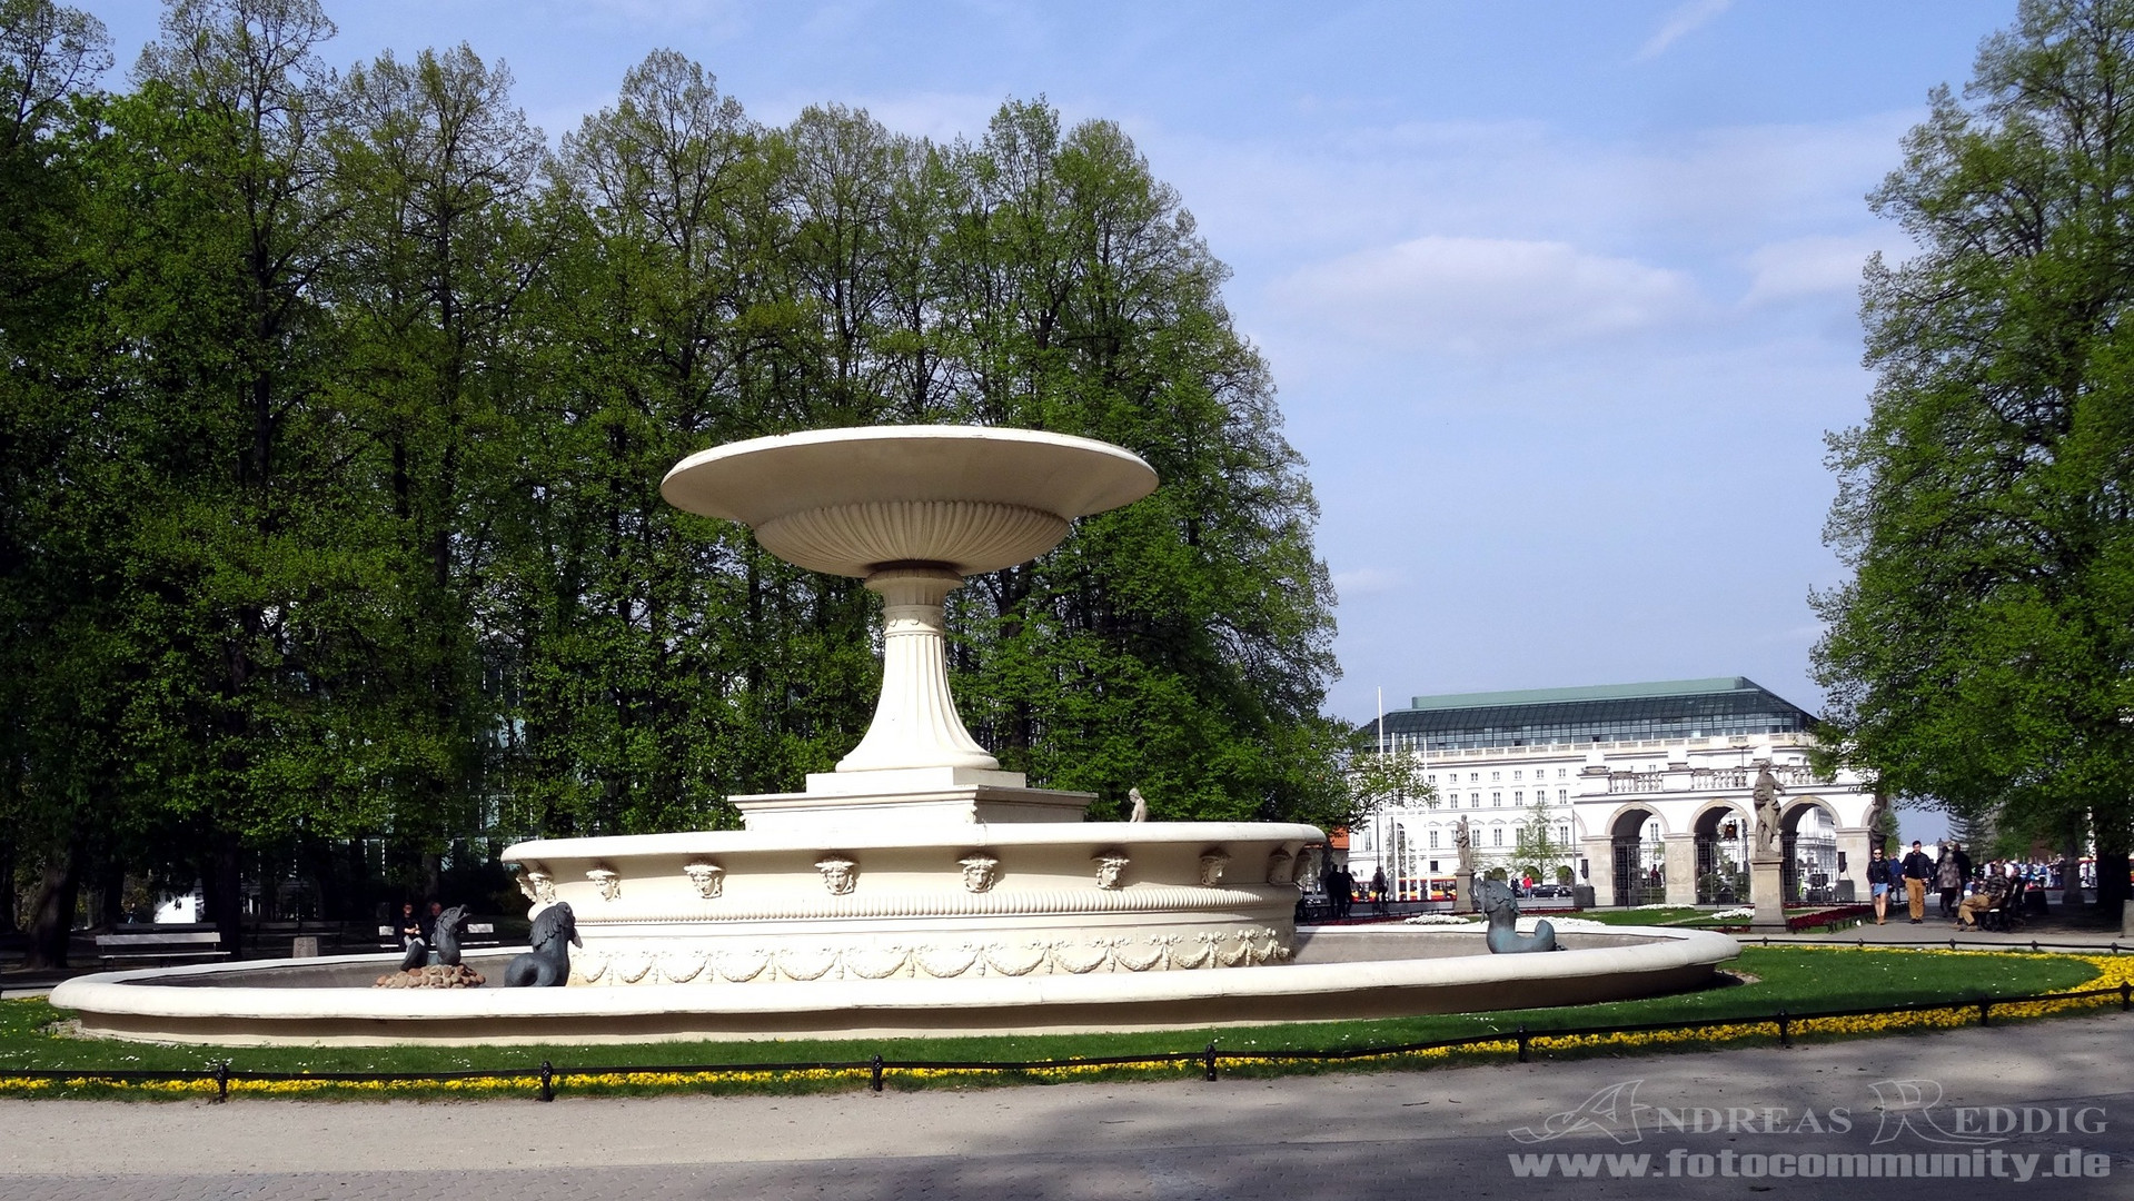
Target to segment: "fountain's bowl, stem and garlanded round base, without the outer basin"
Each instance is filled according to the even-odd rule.
[[[766,986],[1148,973],[1280,962],[1312,826],[1082,821],[965,730],[943,597],[1146,497],[1133,454],[1056,433],[892,427],[721,446],[668,503],[787,563],[881,593],[875,721],[805,791],[736,796],[745,830],[521,843],[536,904],[568,900],[574,983]]]

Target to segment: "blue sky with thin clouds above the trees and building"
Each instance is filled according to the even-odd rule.
[[[75,0],[122,73],[162,4]],[[1233,269],[1340,593],[1329,712],[1750,676],[1818,708],[1825,435],[1865,194],[2014,0],[327,0],[333,64],[472,45],[551,139],[670,47],[760,122],[1118,122]],[[115,79],[113,83],[124,83]]]

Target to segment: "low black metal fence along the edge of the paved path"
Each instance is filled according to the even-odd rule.
[[[423,1071],[423,1073],[301,1073],[301,1071],[239,1071],[226,1060],[213,1062],[205,1069],[192,1071],[13,1071],[0,1069],[0,1082],[49,1082],[64,1086],[128,1086],[128,1084],[162,1084],[162,1086],[196,1086],[198,1092],[213,1092],[213,1101],[228,1101],[233,1084],[273,1084],[273,1082],[301,1082],[305,1086],[365,1086],[365,1084],[391,1084],[391,1086],[440,1086],[450,1088],[452,1082],[527,1082],[527,1092],[540,1101],[555,1101],[557,1090],[568,1086],[572,1077],[585,1082],[608,1084],[662,1084],[662,1077],[794,1077],[807,1073],[843,1075],[849,1079],[862,1079],[875,1092],[881,1092],[886,1084],[898,1075],[926,1075],[926,1073],[992,1073],[992,1075],[1048,1075],[1048,1073],[1101,1073],[1103,1069],[1152,1069],[1165,1064],[1195,1064],[1201,1079],[1221,1079],[1223,1067],[1244,1067],[1255,1062],[1308,1062],[1308,1064],[1338,1064],[1338,1062],[1359,1062],[1359,1060],[1400,1060],[1415,1056],[1443,1056],[1443,1054],[1487,1054],[1502,1050],[1515,1058],[1515,1062],[1532,1062],[1536,1043],[1547,1050],[1551,1043],[1579,1041],[1579,1039],[1615,1039],[1615,1037],[1637,1037],[1637,1035],[1690,1035],[1686,1041],[1701,1041],[1701,1035],[1716,1035],[1722,1030],[1758,1028],[1773,1026],[1778,1045],[1790,1047],[1793,1039],[1807,1032],[1816,1022],[1831,1020],[1852,1020],[1852,1018],[1895,1018],[1895,1015],[1948,1015],[1953,1022],[1940,1022],[1942,1026],[1970,1024],[1976,1018],[1978,1026],[1993,1024],[1993,1011],[2004,1013],[2019,1005],[2055,1005],[2070,1007],[2081,1003],[2093,1003],[2104,1007],[2111,1000],[2119,1003],[2119,1011],[2134,1011],[2134,983],[2119,983],[2117,988],[2091,988],[2079,992],[2044,992],[2025,996],[1978,996],[1965,1000],[1940,1000],[1940,1003],[1908,1003],[1908,1005],[1884,1005],[1865,1009],[1820,1009],[1812,1013],[1788,1013],[1780,1009],[1775,1013],[1743,1015],[1743,1018],[1699,1018],[1684,1022],[1643,1022],[1643,1024],[1618,1024],[1618,1026],[1549,1026],[1530,1030],[1528,1026],[1515,1026],[1511,1030],[1490,1030],[1481,1035],[1466,1035],[1460,1039],[1432,1039],[1421,1043],[1389,1043],[1374,1047],[1342,1047],[1342,1050],[1315,1050],[1315,1047],[1289,1047],[1289,1050],[1225,1050],[1221,1043],[1208,1043],[1195,1052],[1152,1052],[1133,1056],[1084,1056],[1084,1058],[1048,1058],[1048,1060],[892,1060],[886,1056],[873,1056],[864,1060],[800,1060],[800,1062],[728,1062],[728,1064],[668,1064],[668,1067],[555,1067],[551,1060],[519,1069],[478,1069],[478,1071]],[[1735,1041],[1735,1039],[1729,1039]]]

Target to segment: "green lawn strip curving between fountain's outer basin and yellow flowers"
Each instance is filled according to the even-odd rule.
[[[1652,913],[1652,911],[1647,911]],[[2093,964],[2072,956],[1857,951],[1827,947],[1746,947],[1733,971],[1748,983],[1677,996],[1526,1009],[1498,1013],[1445,1013],[1381,1022],[1310,1022],[1223,1030],[1142,1035],[1046,1035],[980,1039],[877,1041],[762,1041],[762,1043],[655,1043],[655,1045],[542,1045],[542,1047],[177,1047],[62,1037],[51,1026],[64,1013],[43,1000],[0,1003],[0,1077],[9,1071],[124,1071],[201,1069],[228,1060],[237,1071],[309,1073],[427,1073],[504,1071],[551,1060],[557,1069],[751,1064],[811,1060],[1046,1060],[1193,1052],[1216,1041],[1233,1052],[1355,1050],[1423,1043],[1487,1032],[1562,1030],[1645,1022],[1699,1022],[1763,1018],[1778,1009],[1795,1015],[1818,1009],[1972,1000],[2074,988],[2091,981]],[[1184,1069],[1120,1075],[1176,1075]],[[1227,1069],[1229,1071],[1229,1069]],[[1242,1071],[1327,1071],[1325,1064],[1251,1064]],[[965,1079],[971,1082],[971,1079]],[[849,1082],[834,1084],[839,1088]],[[790,1086],[775,1086],[790,1088]]]

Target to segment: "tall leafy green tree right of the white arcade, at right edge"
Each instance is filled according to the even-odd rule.
[[[1842,755],[2006,843],[2134,817],[2134,4],[2025,0],[1872,194],[1876,390],[1831,439],[1816,674]]]

